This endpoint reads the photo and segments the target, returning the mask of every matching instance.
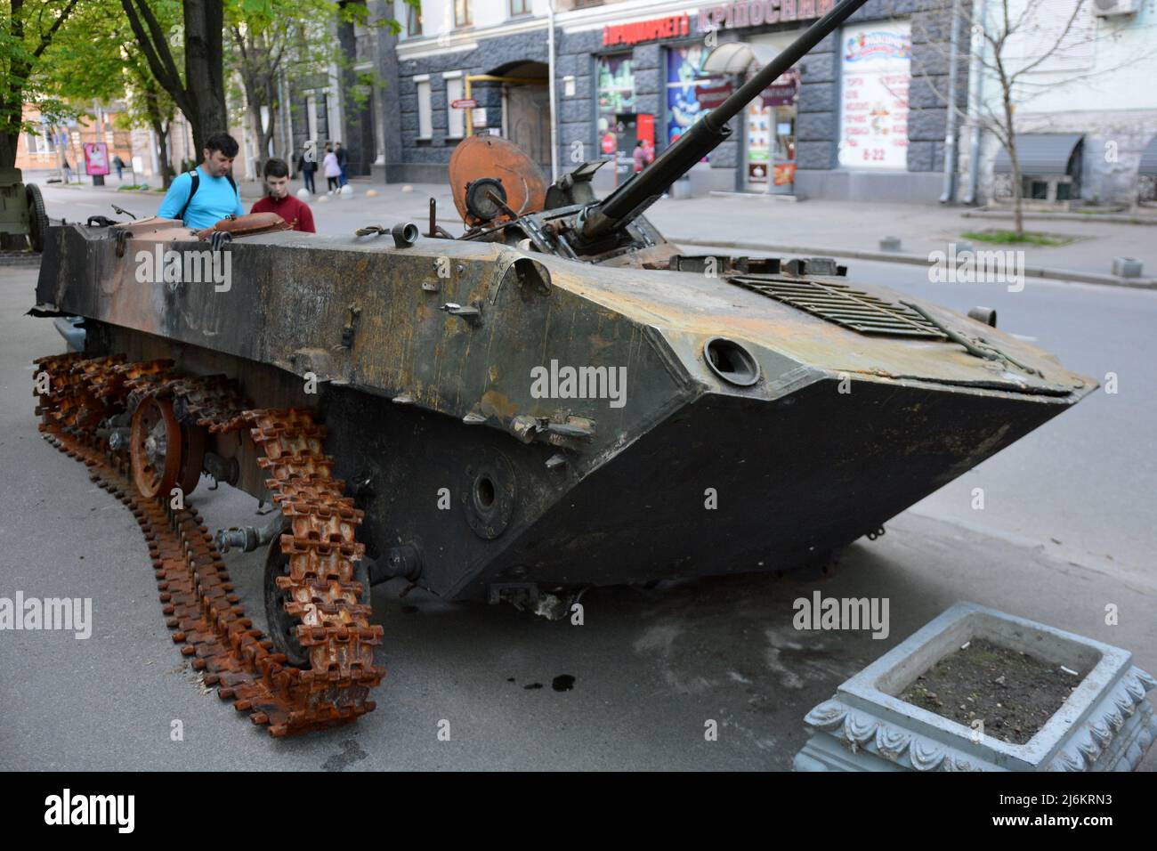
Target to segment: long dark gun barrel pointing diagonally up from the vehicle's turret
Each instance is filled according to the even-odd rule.
[[[843,0],[837,5],[723,103],[692,124],[678,141],[655,159],[655,162],[632,176],[603,200],[588,206],[578,218],[578,230],[582,236],[587,240],[596,239],[639,217],[672,183],[731,134],[727,126],[729,120],[865,2],[868,0]]]

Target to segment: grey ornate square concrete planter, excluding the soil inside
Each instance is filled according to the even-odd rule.
[[[1025,744],[978,736],[897,695],[965,641],[988,639],[1081,676]],[[957,603],[839,687],[804,719],[812,738],[797,771],[1132,771],[1157,736],[1145,692],[1157,685],[1133,654],[1090,638]],[[979,739],[979,741],[978,741]]]

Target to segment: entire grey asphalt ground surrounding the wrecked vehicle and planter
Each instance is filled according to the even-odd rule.
[[[0,631],[0,769],[788,769],[808,710],[957,600],[1127,647],[1157,670],[1157,294],[931,285],[919,269],[869,263],[854,273],[953,308],[996,307],[1002,328],[1067,366],[1101,381],[1115,372],[1120,393],[1098,391],[929,497],[819,584],[599,589],[583,599],[582,626],[378,586],[377,711],[274,741],[200,688],[164,628],[132,516],[37,435],[30,361],[62,346],[50,321],[23,316],[35,271],[0,267],[0,596],[91,597],[95,621],[87,640]],[[970,507],[975,486],[982,512]],[[193,501],[211,528],[256,508],[228,489]],[[260,624],[257,558],[227,560]],[[889,597],[889,637],[795,630],[791,602],[813,588]],[[570,690],[552,688],[560,675]],[[170,740],[177,719],[183,741]],[[705,741],[709,720],[717,741]],[[1157,768],[1157,750],[1143,768]]]

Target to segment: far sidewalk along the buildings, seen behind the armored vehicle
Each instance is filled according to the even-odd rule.
[[[28,173],[25,179],[31,181],[32,176]],[[110,204],[118,204],[137,214],[154,213],[160,206],[160,192],[117,191],[116,177],[105,181],[104,186],[93,186],[89,182],[67,188],[47,184],[42,189],[84,193],[94,201],[102,196],[116,196],[123,200],[110,198]],[[414,221],[425,233],[432,197],[437,200],[439,223],[452,234],[460,233],[462,223],[448,185],[374,183],[369,178],[352,178],[349,183],[354,190],[352,197],[326,197],[323,192],[309,200],[319,233],[337,235],[369,223],[392,225],[400,220]],[[290,189],[296,192],[302,185],[297,179]],[[318,185],[324,186],[324,179]],[[246,205],[263,192],[257,181],[242,181],[238,186]],[[374,191],[375,196],[367,196],[369,191]],[[49,214],[59,217],[53,210],[57,206],[53,199],[46,198]],[[152,201],[146,201],[146,198]],[[670,241],[680,245],[926,265],[931,251],[946,252],[949,243],[967,239],[963,236],[966,232],[1005,229],[1011,223],[967,215],[972,212],[967,207],[928,204],[820,199],[793,204],[771,197],[728,195],[681,200],[664,198],[647,215]],[[1023,251],[1029,277],[1157,287],[1157,230],[1147,225],[1096,221],[1095,217],[1086,219],[1027,220],[1030,230],[1074,237],[1074,242],[1067,245],[972,242],[977,250],[1012,248]],[[884,237],[898,237],[899,251],[882,251],[879,242]],[[1143,277],[1126,279],[1112,276],[1114,257],[1140,259]]]

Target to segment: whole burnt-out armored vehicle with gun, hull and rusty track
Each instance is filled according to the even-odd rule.
[[[588,586],[813,565],[1095,388],[834,261],[687,256],[643,218],[858,5],[603,200],[599,163],[546,186],[474,137],[458,239],[433,214],[47,230],[36,313],[83,317],[86,349],[39,362],[42,430],[133,508],[207,682],[278,735],[341,722],[382,676],[373,584],[558,614]],[[214,534],[202,476],[280,512]],[[259,546],[267,636],[222,559]]]

